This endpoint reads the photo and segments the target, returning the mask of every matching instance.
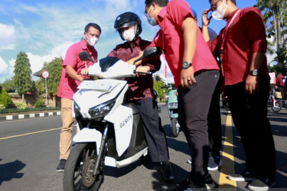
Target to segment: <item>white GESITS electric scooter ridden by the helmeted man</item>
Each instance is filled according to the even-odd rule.
[[[135,62],[159,52],[158,47],[149,47]],[[94,62],[88,52],[81,52],[79,58]],[[83,81],[73,96],[80,131],[73,137],[65,165],[64,191],[98,190],[105,165],[120,168],[148,153],[139,111],[127,99],[127,81],[116,80],[135,77],[135,65],[106,57],[90,66],[88,73],[103,79]]]

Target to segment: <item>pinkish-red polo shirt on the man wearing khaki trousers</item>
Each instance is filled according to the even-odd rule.
[[[73,95],[77,91],[78,85],[81,83],[80,81],[73,80],[68,76],[68,74],[66,74],[66,66],[72,66],[75,71],[79,73],[82,69],[94,65],[94,63],[91,61],[83,61],[79,59],[78,55],[80,52],[89,52],[92,59],[97,61],[98,52],[94,47],[90,52],[84,41],[85,40],[82,40],[81,42],[73,44],[66,52],[65,60],[63,62],[61,80],[57,91],[57,96],[59,97],[73,99]],[[87,76],[83,77],[88,78]]]

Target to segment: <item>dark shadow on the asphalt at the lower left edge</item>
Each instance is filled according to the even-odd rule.
[[[1,161],[2,159],[0,159]],[[22,178],[24,173],[18,173],[18,171],[22,170],[26,164],[22,163],[19,160],[15,160],[14,162],[9,162],[6,164],[0,164],[0,185],[4,181],[10,181],[13,178]]]

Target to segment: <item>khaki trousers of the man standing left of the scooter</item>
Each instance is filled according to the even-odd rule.
[[[62,129],[60,133],[60,159],[68,158],[70,154],[73,125],[75,119],[72,117],[73,100],[61,98]]]

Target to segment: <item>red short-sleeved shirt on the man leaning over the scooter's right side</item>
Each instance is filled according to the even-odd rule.
[[[185,18],[193,17],[193,13],[187,2],[183,0],[171,0],[167,6],[158,13],[160,31],[150,46],[164,45],[166,61],[174,77],[175,86],[180,85],[180,73],[183,63],[183,31],[181,25]],[[197,31],[196,50],[192,60],[194,72],[199,70],[219,70],[212,53],[202,36],[200,28]],[[162,39],[163,42],[162,43]]]

